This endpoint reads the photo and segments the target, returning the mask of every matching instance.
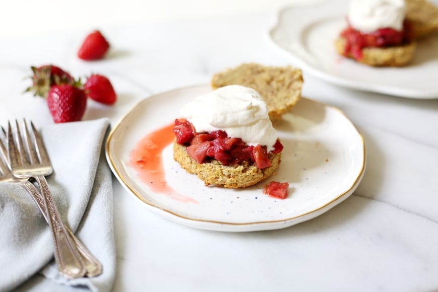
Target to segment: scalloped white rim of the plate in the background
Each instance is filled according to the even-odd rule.
[[[281,45],[279,45],[274,38],[272,37],[272,34],[274,31],[279,27],[280,19],[282,14],[290,9],[300,9],[300,8],[309,8],[318,4],[322,3],[328,3],[329,0],[322,0],[312,3],[306,3],[302,5],[289,5],[285,7],[281,7],[278,9],[274,15],[274,24],[269,26],[269,28],[264,33],[264,38],[266,39],[266,42],[270,47],[272,47],[274,50],[276,50],[279,54],[284,56],[286,59],[291,60],[294,62],[294,64],[297,67],[301,67],[303,71],[308,72],[310,75],[315,76],[323,81],[327,81],[329,83],[332,83],[334,85],[338,85],[344,88],[349,88],[353,90],[360,90],[363,92],[373,92],[373,93],[379,93],[379,94],[385,94],[390,96],[396,96],[396,97],[402,97],[402,98],[409,98],[409,99],[419,99],[419,100],[428,100],[428,99],[438,99],[438,89],[435,91],[416,91],[416,90],[407,90],[407,89],[401,89],[399,90],[397,87],[390,87],[390,86],[384,86],[384,85],[375,85],[375,84],[366,84],[361,83],[353,80],[344,79],[341,77],[333,76],[331,74],[328,74],[327,72],[320,70],[318,68],[315,68],[311,64],[309,64],[304,59],[300,58],[300,56],[294,54],[293,52],[287,50],[286,48],[283,48]],[[341,2],[347,2],[346,0],[337,0],[332,1],[332,3],[341,3]]]

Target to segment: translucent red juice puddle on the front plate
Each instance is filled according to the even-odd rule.
[[[197,203],[195,199],[178,193],[166,181],[163,150],[173,142],[173,126],[174,123],[171,123],[141,138],[131,150],[128,165],[152,191],[177,201]]]

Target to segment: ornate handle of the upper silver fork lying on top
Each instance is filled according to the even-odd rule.
[[[61,221],[61,216],[53,202],[47,181],[43,175],[35,175],[34,178],[42,192],[44,207],[47,211],[47,223],[52,232],[55,260],[59,271],[70,278],[83,277],[87,272],[85,264]]]

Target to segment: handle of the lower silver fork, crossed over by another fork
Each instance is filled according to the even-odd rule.
[[[31,194],[32,198],[36,202],[38,208],[40,209],[44,219],[48,222],[46,208],[44,206],[44,200],[42,195],[38,192],[37,188],[28,180],[20,181],[23,187],[27,189],[27,191]],[[101,262],[84,246],[84,244],[75,236],[74,233],[65,225],[65,229],[67,230],[70,238],[76,244],[79,255],[81,256],[82,261],[85,264],[85,268],[87,269],[86,276],[87,277],[95,277],[102,273],[102,264]]]

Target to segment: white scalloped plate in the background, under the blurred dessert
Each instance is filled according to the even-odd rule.
[[[347,0],[280,10],[267,39],[293,65],[352,89],[416,99],[438,98],[438,35],[419,41],[403,68],[374,68],[338,55],[334,40],[346,26]]]

